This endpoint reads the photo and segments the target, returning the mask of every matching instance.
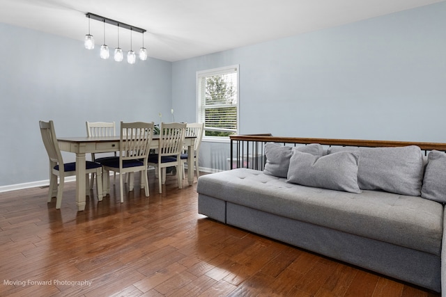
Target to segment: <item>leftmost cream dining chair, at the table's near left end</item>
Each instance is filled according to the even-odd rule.
[[[49,122],[39,121],[40,134],[42,134],[43,144],[47,150],[49,157],[49,191],[48,202],[56,193],[56,209],[61,208],[63,185],[65,183],[65,177],[76,175],[76,163],[63,163],[61,150],[59,150],[59,144],[57,143],[56,132],[54,130],[54,123],[52,120]],[[89,179],[90,173],[95,173],[98,178],[96,179],[96,189],[98,191],[98,200],[102,200],[102,166],[99,163],[92,161],[86,161],[86,195],[90,195],[89,191]],[[59,186],[57,185],[57,177],[59,177]]]

